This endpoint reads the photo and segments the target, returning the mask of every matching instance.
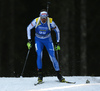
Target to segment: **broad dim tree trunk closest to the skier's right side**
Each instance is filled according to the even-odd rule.
[[[64,33],[61,33],[61,68],[63,69],[62,73],[63,75],[69,75],[69,62],[68,62],[68,23],[69,23],[69,9],[67,8],[65,11],[66,19],[62,17],[63,20],[61,23],[64,25],[64,27],[61,29],[64,31]],[[66,21],[67,20],[67,21]],[[62,32],[62,31],[61,31]]]

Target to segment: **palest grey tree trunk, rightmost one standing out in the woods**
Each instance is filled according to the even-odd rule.
[[[81,0],[81,75],[87,75],[86,30],[86,0]]]

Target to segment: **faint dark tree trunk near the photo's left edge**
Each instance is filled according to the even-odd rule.
[[[9,36],[9,67],[10,76],[14,76],[14,0],[10,0],[10,36]]]

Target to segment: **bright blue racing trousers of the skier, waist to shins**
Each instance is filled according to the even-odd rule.
[[[51,37],[46,39],[40,39],[35,37],[35,48],[37,52],[37,68],[42,69],[42,51],[44,46],[46,47],[49,53],[55,71],[59,71],[60,70],[59,64],[55,57],[55,51],[54,51],[54,46]]]

